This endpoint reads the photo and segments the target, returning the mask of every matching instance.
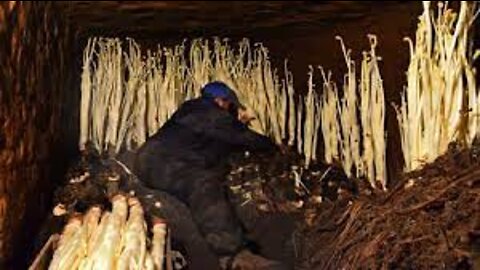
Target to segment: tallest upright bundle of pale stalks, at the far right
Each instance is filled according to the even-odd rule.
[[[469,146],[479,133],[480,102],[475,81],[470,28],[476,1],[462,1],[459,13],[439,2],[423,2],[402,103],[397,108],[405,171],[421,168],[448,145]]]

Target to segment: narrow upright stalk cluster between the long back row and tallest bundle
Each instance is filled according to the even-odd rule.
[[[373,188],[386,189],[385,97],[378,68],[379,57],[375,53],[377,39],[373,35],[368,38],[370,50],[363,54],[357,86],[351,51],[337,37],[347,64],[341,99],[331,73],[327,75],[320,67],[323,97],[319,114],[324,158],[327,163],[339,162],[348,177],[364,177]]]

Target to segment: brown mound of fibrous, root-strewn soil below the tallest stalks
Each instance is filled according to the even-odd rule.
[[[479,269],[479,150],[452,147],[386,194],[314,210],[298,269]]]

